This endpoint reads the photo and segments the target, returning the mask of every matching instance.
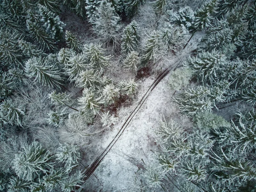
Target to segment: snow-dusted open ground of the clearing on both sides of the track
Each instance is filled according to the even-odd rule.
[[[183,52],[176,56],[174,55],[171,64],[188,57],[200,36],[200,34],[195,35],[195,38]],[[169,116],[173,113],[172,110],[175,110],[172,103],[174,90],[169,87],[169,75],[170,73],[152,90],[119,140],[113,145],[93,175],[86,180],[81,191],[121,191],[134,179],[137,171],[153,165],[153,162],[156,161],[154,152],[159,148],[154,131],[154,126],[157,125],[157,118],[160,118],[161,115]],[[156,79],[155,76],[139,79],[137,83],[140,84],[140,87],[136,98],[131,102],[131,105],[121,106],[117,111],[119,122],[84,145],[82,151],[86,151],[86,153],[82,157],[81,163],[84,162],[85,167],[90,166],[96,157],[111,143],[131,111],[137,106],[140,99],[154,82],[154,79]]]

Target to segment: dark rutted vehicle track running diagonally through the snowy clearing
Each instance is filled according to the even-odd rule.
[[[154,82],[151,84],[151,86],[148,88],[147,92],[143,95],[143,98],[140,99],[140,102],[137,104],[136,108],[131,112],[130,116],[126,119],[125,123],[122,125],[119,132],[116,134],[116,136],[113,138],[111,143],[105,148],[105,150],[96,158],[96,160],[91,164],[90,168],[87,169],[83,174],[84,177],[84,183],[85,181],[93,174],[93,172],[96,170],[96,168],[99,166],[103,158],[108,154],[108,151],[111,150],[113,145],[116,143],[116,141],[119,139],[119,137],[122,135],[122,133],[125,131],[125,128],[128,126],[128,124],[131,122],[131,119],[134,117],[134,115],[139,111],[145,100],[148,98],[151,91],[154,89],[154,87],[157,86],[157,84],[171,71],[175,70],[178,65],[183,61],[183,59],[186,57],[183,57],[180,61],[176,61],[174,64],[172,64],[170,67],[168,67],[166,70],[164,70],[159,76],[157,76],[157,79],[154,80]],[[81,185],[83,186],[84,183]],[[82,187],[81,190],[82,191]]]

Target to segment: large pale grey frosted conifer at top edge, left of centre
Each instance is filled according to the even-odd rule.
[[[120,17],[116,15],[115,9],[106,0],[102,1],[97,10],[96,17],[91,18],[93,30],[104,44],[113,44],[113,49],[119,45]]]

